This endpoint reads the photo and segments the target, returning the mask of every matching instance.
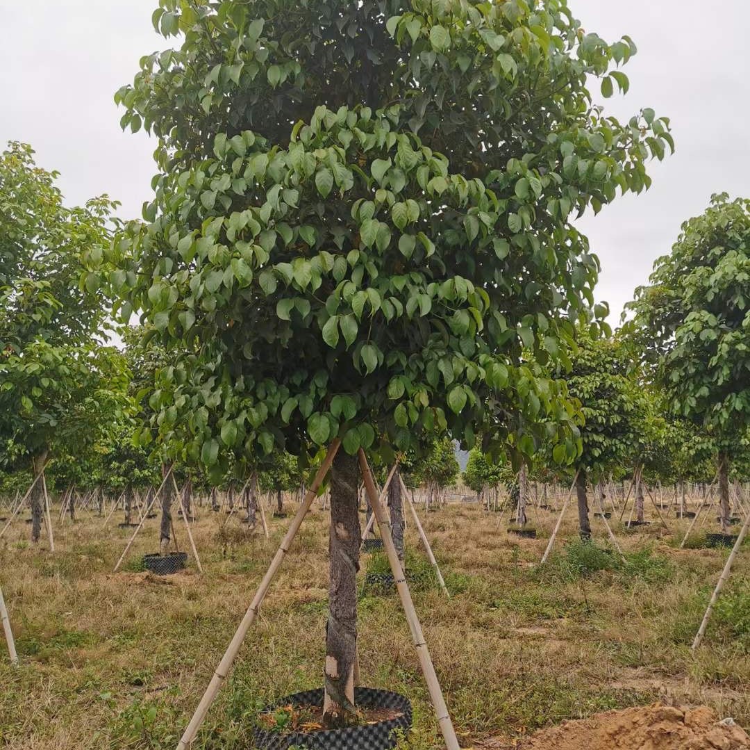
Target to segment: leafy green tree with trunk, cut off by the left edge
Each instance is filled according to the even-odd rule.
[[[36,167],[29,146],[0,154],[0,467],[30,461],[31,539],[38,541],[50,451],[83,450],[122,405],[125,372],[104,330],[98,263],[114,204],[101,197],[68,209],[57,173]]]

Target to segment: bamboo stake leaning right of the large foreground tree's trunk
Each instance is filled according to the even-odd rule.
[[[437,723],[440,726],[440,731],[443,733],[443,739],[446,741],[446,748],[448,750],[460,750],[458,738],[456,737],[455,729],[448,713],[448,706],[446,706],[443,691],[440,689],[440,683],[437,680],[437,674],[435,673],[435,667],[432,663],[427,643],[425,642],[425,636],[422,634],[422,627],[419,625],[419,619],[414,609],[412,595],[409,592],[409,586],[407,586],[407,580],[404,577],[404,570],[401,568],[401,562],[398,559],[398,553],[393,544],[391,522],[378,498],[370,466],[368,465],[368,459],[362,448],[359,449],[359,466],[362,469],[362,477],[365,480],[365,487],[370,497],[370,505],[377,519],[377,524],[380,527],[380,537],[383,539],[383,547],[386,548],[386,555],[391,564],[396,589],[401,598],[401,606],[404,607],[404,613],[407,616],[412,639],[417,649],[419,664],[422,666],[422,673],[425,675],[425,682],[427,682],[435,715],[437,715]]]

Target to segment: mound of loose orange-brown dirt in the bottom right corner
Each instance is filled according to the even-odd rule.
[[[750,738],[731,719],[718,721],[706,706],[655,703],[565,721],[514,742],[490,740],[483,750],[744,750]]]

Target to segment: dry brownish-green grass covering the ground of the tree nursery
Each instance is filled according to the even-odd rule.
[[[139,572],[141,556],[156,550],[158,519],[147,522],[124,571],[112,574],[130,532],[113,522],[102,531],[101,520],[81,515],[56,529],[54,555],[26,544],[25,525],[0,541],[0,583],[21,658],[13,669],[0,649],[0,745],[173,750],[290,520],[269,514],[266,541],[236,522],[221,530],[204,508],[194,535],[205,575],[190,561],[186,573],[158,579]],[[660,685],[748,727],[745,550],[694,653],[690,642],[728,551],[676,549],[687,521],[669,520],[671,533],[654,525],[628,535],[615,524],[623,562],[603,534],[577,541],[572,516],[539,568],[551,513],[535,520],[536,540],[509,537],[493,514],[471,506],[423,514],[451,598],[435,585],[409,526],[407,570],[425,573],[413,598],[462,745],[648,703]],[[322,684],[327,522],[319,509],[305,520],[196,750],[247,748],[263,706]],[[184,527],[177,532],[186,549]],[[382,553],[363,555],[361,567],[362,580],[367,570],[385,572]],[[412,700],[410,747],[440,747],[395,590],[362,588],[359,651],[364,684]]]

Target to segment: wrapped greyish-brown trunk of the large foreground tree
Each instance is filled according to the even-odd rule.
[[[358,462],[340,450],[332,464],[329,535],[329,620],[326,625],[326,727],[356,719],[354,664],[357,652],[357,582],[362,532],[357,513]]]

